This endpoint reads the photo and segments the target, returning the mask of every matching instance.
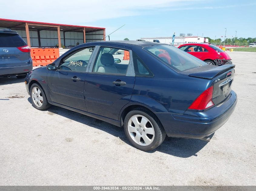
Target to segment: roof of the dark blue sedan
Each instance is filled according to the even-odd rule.
[[[111,45],[121,45],[121,46],[141,46],[141,47],[147,47],[147,46],[155,46],[155,45],[168,45],[163,43],[154,43],[154,42],[148,42],[148,41],[138,41],[138,40],[109,40],[109,41],[97,41],[97,42],[90,42],[85,43],[87,44],[111,44]]]

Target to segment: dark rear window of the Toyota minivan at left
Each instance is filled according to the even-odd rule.
[[[20,47],[26,43],[18,34],[0,33],[0,47]]]

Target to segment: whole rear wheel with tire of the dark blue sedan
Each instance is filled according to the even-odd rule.
[[[124,129],[131,144],[142,151],[157,148],[166,136],[159,119],[143,108],[131,110],[125,116]]]

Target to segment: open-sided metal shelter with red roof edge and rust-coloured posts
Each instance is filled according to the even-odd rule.
[[[76,46],[77,43],[81,44],[85,42],[105,40],[105,28],[101,27],[0,18],[0,28],[9,28],[18,31],[20,36],[30,47],[54,47],[57,46],[57,44]],[[76,40],[77,43],[75,43],[74,40]]]

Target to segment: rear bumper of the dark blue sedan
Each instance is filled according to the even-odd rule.
[[[186,111],[183,115],[156,113],[169,137],[204,138],[219,129],[231,116],[237,103],[237,95],[231,96],[220,106],[204,112]]]

